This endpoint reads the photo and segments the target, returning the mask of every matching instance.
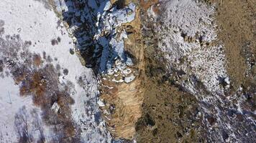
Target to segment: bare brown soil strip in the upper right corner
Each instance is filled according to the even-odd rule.
[[[227,71],[237,90],[255,78],[256,1],[212,2],[217,2],[218,37],[224,43]]]

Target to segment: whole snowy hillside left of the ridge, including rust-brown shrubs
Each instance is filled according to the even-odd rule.
[[[49,4],[4,0],[0,13],[1,142],[110,142],[96,77]]]

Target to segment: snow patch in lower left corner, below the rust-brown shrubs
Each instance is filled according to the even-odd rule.
[[[35,107],[31,97],[19,95],[19,85],[12,77],[0,78],[0,142],[18,142],[17,134],[21,122],[16,116],[24,116],[28,123],[28,132],[36,142],[40,139],[40,127],[45,137],[50,139],[52,131],[42,122],[40,108]],[[23,124],[23,123],[22,123]]]

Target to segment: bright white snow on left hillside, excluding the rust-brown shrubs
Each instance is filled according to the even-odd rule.
[[[58,3],[58,10],[68,9],[64,2]],[[96,78],[94,77],[93,70],[82,66],[76,54],[70,54],[70,49],[73,49],[73,39],[70,38],[68,31],[63,24],[59,21],[55,12],[46,9],[44,4],[34,0],[2,0],[0,2],[0,19],[4,20],[5,34],[19,34],[22,41],[31,41],[32,46],[29,46],[29,51],[32,53],[40,54],[43,52],[52,58],[53,65],[60,65],[60,71],[68,69],[68,74],[60,73],[59,87],[62,84],[71,82],[73,87],[71,97],[74,99],[75,104],[72,105],[72,117],[76,124],[79,125],[83,142],[91,139],[91,142],[98,142],[99,139],[110,142],[110,134],[104,127],[104,122],[96,114],[99,114],[97,97],[99,95],[97,89]],[[58,24],[60,23],[60,24]],[[60,41],[57,40],[60,38]],[[57,40],[58,44],[52,45],[52,40]],[[45,66],[44,62],[42,66]],[[78,79],[83,79],[83,86],[78,84]],[[14,85],[11,77],[4,77],[1,79],[1,114],[6,114],[0,118],[1,122],[1,139],[4,142],[16,142],[16,134],[14,132],[14,115],[18,109],[26,105],[28,109],[35,108],[32,104],[31,97],[20,97],[19,86]],[[8,92],[12,98],[12,103],[9,104]],[[88,95],[88,96],[86,96]],[[86,104],[90,102],[90,104]],[[16,106],[13,106],[16,105]],[[90,112],[87,114],[86,109]],[[9,112],[6,112],[9,109]],[[101,124],[99,124],[101,123]],[[89,126],[92,124],[92,126]],[[46,126],[45,131],[51,134],[50,129]],[[86,128],[86,129],[84,129]],[[3,130],[4,129],[4,130]],[[100,134],[99,131],[104,134]],[[6,136],[6,132],[9,136]],[[48,137],[48,135],[46,135]],[[49,135],[50,136],[50,135]]]

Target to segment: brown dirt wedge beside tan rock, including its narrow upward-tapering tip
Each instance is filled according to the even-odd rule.
[[[145,76],[140,85],[145,94],[135,138],[137,142],[202,142],[198,101],[175,83],[178,71],[170,74],[165,69],[167,61],[157,48],[157,31],[154,22],[148,20],[145,13],[148,6],[145,6],[146,9],[141,11],[145,26],[142,29]]]

